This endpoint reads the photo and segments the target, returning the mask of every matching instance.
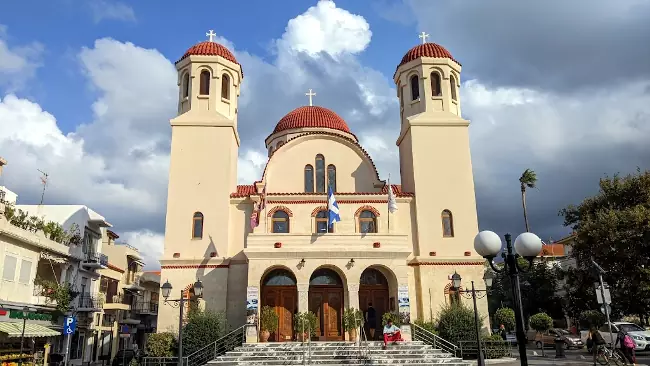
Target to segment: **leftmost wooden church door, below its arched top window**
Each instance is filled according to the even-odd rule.
[[[262,290],[262,306],[271,306],[278,314],[278,330],[271,333],[269,341],[293,340],[293,314],[296,312],[297,289],[295,286],[269,286]]]

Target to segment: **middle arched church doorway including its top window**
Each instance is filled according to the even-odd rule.
[[[321,268],[311,275],[309,311],[318,319],[315,339],[343,340],[343,281],[333,270]]]

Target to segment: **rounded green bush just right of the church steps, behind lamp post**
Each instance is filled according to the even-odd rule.
[[[483,324],[483,317],[479,322]],[[440,337],[458,344],[460,341],[476,342],[476,326],[474,324],[474,310],[462,303],[447,305],[438,313],[436,326]]]

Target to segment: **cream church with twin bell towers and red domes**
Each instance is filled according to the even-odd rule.
[[[161,283],[173,286],[172,297],[191,298],[200,279],[200,306],[224,312],[231,327],[246,323],[247,308],[250,315],[272,306],[278,342],[295,339],[296,312],[316,314],[315,340],[342,340],[346,308],[372,303],[381,323],[386,312],[428,320],[450,301],[471,306],[450,281],[457,272],[467,285],[482,283],[485,263],[473,245],[469,121],[461,117],[461,65],[451,53],[421,36],[397,63],[401,184],[389,185],[354,131],[336,111],[313,105],[310,91],[308,105],[269,131],[259,180],[238,185],[244,73],[212,37],[176,62],[161,258]],[[333,225],[330,190],[341,218]],[[478,306],[487,315],[485,298]],[[177,330],[178,317],[177,308],[161,305],[158,331]]]

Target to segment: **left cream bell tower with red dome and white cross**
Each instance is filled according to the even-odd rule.
[[[197,278],[203,304],[225,311],[231,233],[230,194],[236,191],[237,100],[241,65],[211,30],[176,62],[178,115],[171,119],[171,153],[161,279],[176,298]],[[159,328],[178,324],[160,308]]]

